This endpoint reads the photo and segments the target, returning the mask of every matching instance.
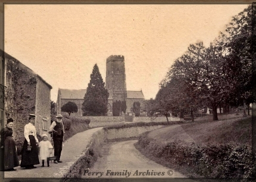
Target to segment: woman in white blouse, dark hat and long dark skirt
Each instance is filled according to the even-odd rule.
[[[24,143],[21,152],[21,168],[26,168],[31,170],[36,168],[34,165],[40,164],[38,158],[38,138],[36,137],[36,127],[35,127],[35,118],[34,114],[29,115],[29,124],[26,124],[24,127]],[[27,146],[32,147],[31,150],[28,150]]]

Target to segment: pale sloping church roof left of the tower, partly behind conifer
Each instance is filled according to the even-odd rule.
[[[70,90],[70,89],[59,89],[61,99],[83,99],[87,89]],[[113,100],[112,96],[108,96],[108,100]]]

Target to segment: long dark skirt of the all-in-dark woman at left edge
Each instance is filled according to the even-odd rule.
[[[1,170],[9,170],[20,165],[18,163],[18,155],[13,137],[7,137],[5,139],[4,149],[1,149],[1,157],[3,161]]]

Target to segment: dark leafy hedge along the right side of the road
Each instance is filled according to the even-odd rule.
[[[205,146],[183,141],[161,144],[149,139],[146,133],[138,145],[143,150],[162,158],[171,166],[183,166],[205,178],[252,178],[256,161],[251,149],[242,144],[208,144]]]

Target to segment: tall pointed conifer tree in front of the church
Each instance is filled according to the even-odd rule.
[[[95,64],[90,74],[90,83],[83,101],[83,115],[107,115],[108,112],[108,90],[99,73],[98,65]]]

